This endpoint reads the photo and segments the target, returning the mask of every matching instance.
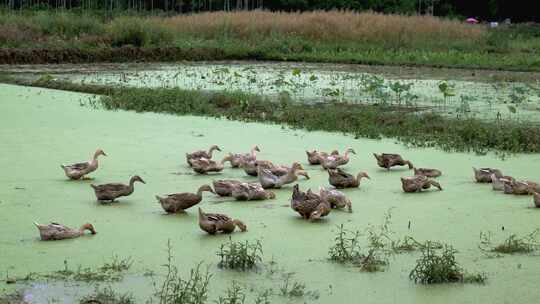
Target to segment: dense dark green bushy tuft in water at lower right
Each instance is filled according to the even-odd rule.
[[[484,283],[484,274],[465,274],[456,261],[457,251],[451,245],[444,244],[441,249],[434,249],[428,241],[421,249],[422,256],[409,273],[409,279],[418,284],[439,283]]]

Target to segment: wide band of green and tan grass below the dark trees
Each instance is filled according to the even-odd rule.
[[[114,18],[0,11],[0,63],[255,59],[540,70],[539,32],[351,11]]]

